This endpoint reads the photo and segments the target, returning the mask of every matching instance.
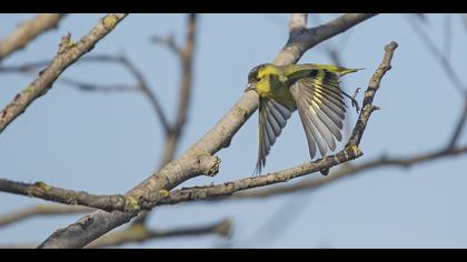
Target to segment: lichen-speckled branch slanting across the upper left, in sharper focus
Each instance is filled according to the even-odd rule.
[[[59,51],[52,62],[39,73],[39,77],[32,81],[21,93],[0,111],[0,133],[36,99],[43,95],[52,88],[57,78],[81,56],[89,52],[99,40],[111,32],[115,27],[127,14],[108,14],[81,40],[72,42],[70,34],[62,38]]]

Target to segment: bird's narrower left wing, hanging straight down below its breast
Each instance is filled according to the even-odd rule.
[[[270,148],[282,132],[287,119],[294,111],[295,109],[284,107],[272,99],[259,99],[259,150],[255,173],[261,173],[261,168],[266,164],[266,157]]]

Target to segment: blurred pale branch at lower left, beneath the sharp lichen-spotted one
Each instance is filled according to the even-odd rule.
[[[38,205],[27,208],[27,209],[23,209],[13,213],[0,215],[0,226],[18,223],[33,216],[90,213],[93,210],[95,209],[90,209],[86,206],[76,206],[76,205],[38,204]]]

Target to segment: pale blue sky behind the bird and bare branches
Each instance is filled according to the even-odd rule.
[[[60,38],[86,34],[103,14],[66,17],[3,66],[50,59]],[[316,24],[310,14],[308,26]],[[322,21],[337,14],[322,14]],[[0,39],[31,14],[0,17]],[[443,44],[445,14],[430,14],[426,27]],[[287,39],[288,14],[201,14],[195,54],[193,95],[186,133],[178,153],[206,133],[240,98],[248,71],[271,61]],[[173,34],[181,43],[185,14],[130,14],[103,39],[93,54],[125,52],[143,72],[150,88],[173,118],[178,99],[179,63],[151,36]],[[466,30],[453,16],[450,61],[459,74],[466,59]],[[300,62],[330,63],[327,44],[340,47],[344,64],[366,68],[345,78],[349,93],[365,89],[382,58],[382,48],[397,41],[393,70],[377,93],[376,111],[361,142],[362,162],[387,154],[404,157],[436,150],[447,143],[460,114],[461,99],[403,14],[380,14],[345,34],[309,50]],[[345,44],[342,44],[345,42]],[[97,83],[133,83],[119,66],[81,63],[63,77]],[[33,75],[0,74],[3,108]],[[361,93],[358,97],[361,99]],[[356,120],[354,110],[347,117]],[[345,139],[348,135],[345,137]],[[163,133],[150,103],[140,93],[82,92],[59,82],[28,108],[0,135],[1,178],[90,193],[122,193],[157,168]],[[265,171],[286,169],[309,161],[299,118],[294,115],[268,157]],[[467,142],[465,135],[460,143]],[[342,145],[342,144],[340,144]],[[249,177],[257,155],[257,114],[234,138],[216,178],[197,178],[183,185],[220,183]],[[267,248],[466,248],[467,198],[465,157],[443,159],[407,170],[370,171],[341,180],[312,193],[296,193],[266,200],[191,203],[161,206],[149,224],[156,229],[201,225],[225,218],[234,221],[231,241],[237,246]],[[319,174],[311,174],[318,177]],[[297,180],[299,181],[299,180]],[[294,183],[291,181],[290,183]],[[41,200],[0,193],[0,214],[43,203]],[[284,206],[289,206],[284,209]],[[291,206],[291,208],[290,208]],[[256,232],[280,213],[268,229],[274,236]],[[297,212],[299,211],[299,212]],[[38,218],[0,229],[0,244],[38,242],[79,215]],[[282,230],[284,229],[284,230]],[[271,233],[272,232],[272,233]],[[270,241],[267,241],[270,240]],[[211,248],[223,244],[217,236],[149,241],[145,248]],[[127,248],[140,246],[128,244]]]

